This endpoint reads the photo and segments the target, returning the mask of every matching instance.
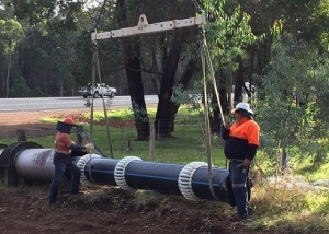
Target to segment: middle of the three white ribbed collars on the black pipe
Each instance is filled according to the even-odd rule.
[[[127,185],[126,179],[125,179],[125,171],[127,165],[132,161],[141,161],[140,157],[138,156],[125,156],[115,166],[114,169],[114,179],[117,184],[117,186],[124,190],[131,190],[132,188]]]

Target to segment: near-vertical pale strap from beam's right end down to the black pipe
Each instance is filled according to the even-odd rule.
[[[204,27],[201,27],[202,34],[204,34]],[[204,38],[204,37],[203,37]],[[207,94],[207,82],[206,82],[206,67],[205,67],[205,47],[204,39],[201,39],[201,61],[202,61],[202,73],[203,73],[203,89],[204,89],[204,112],[205,112],[205,140],[206,140],[206,154],[207,154],[207,164],[208,164],[208,183],[209,189],[215,198],[218,198],[215,195],[213,187],[213,165],[212,165],[212,142],[211,142],[211,125],[209,125],[209,109],[208,109],[208,94]]]

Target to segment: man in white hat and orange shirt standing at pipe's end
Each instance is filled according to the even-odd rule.
[[[229,160],[229,177],[237,206],[231,221],[241,221],[252,212],[248,206],[248,174],[259,148],[260,127],[253,120],[248,103],[237,104],[231,113],[236,121],[222,126],[222,138],[225,140],[224,154]]]

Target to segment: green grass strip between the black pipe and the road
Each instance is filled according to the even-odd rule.
[[[149,108],[148,115],[150,122],[154,122],[156,116],[156,108]],[[90,114],[86,113],[84,117],[89,118]],[[132,122],[133,113],[131,109],[116,109],[111,110],[107,114],[111,122],[115,122],[117,128],[110,128],[111,143],[114,159],[122,159],[127,155],[138,156],[143,160],[149,160],[149,142],[137,141],[137,132],[134,126],[127,126]],[[100,122],[104,118],[102,112],[94,113],[94,122]],[[186,164],[193,161],[206,162],[206,151],[204,138],[202,136],[203,119],[196,114],[189,114],[186,108],[181,108],[177,117],[178,121],[174,126],[174,132],[172,138],[166,140],[159,140],[156,136],[155,142],[155,155],[154,161],[156,162],[171,162]],[[58,120],[56,118],[42,118],[42,121],[50,122],[56,125]],[[83,129],[89,134],[90,126],[83,124]],[[37,142],[43,148],[53,148],[55,136],[29,138],[29,141]],[[75,136],[72,133],[72,139]],[[133,139],[133,145],[128,149],[128,142]],[[15,139],[2,139],[2,143],[10,144]],[[214,137],[212,157],[213,164],[216,166],[225,165],[225,156],[219,145],[218,137]],[[93,139],[92,142],[101,148],[107,156],[111,156],[111,147],[107,138],[106,127],[94,125],[93,126]],[[132,142],[132,141],[131,141]]]

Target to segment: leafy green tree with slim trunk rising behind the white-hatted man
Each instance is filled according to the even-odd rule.
[[[254,46],[262,35],[257,36],[250,26],[250,16],[246,14],[237,1],[204,1],[208,23],[206,36],[214,71],[219,90],[219,102],[225,115],[229,114],[230,93],[235,85],[235,103],[241,102],[242,89],[246,81],[245,65],[248,61],[248,46]],[[211,83],[211,82],[209,82]],[[213,85],[213,84],[212,84]],[[214,87],[212,87],[214,90]],[[213,129],[222,124],[215,92],[213,102]],[[215,101],[215,103],[214,103]]]

